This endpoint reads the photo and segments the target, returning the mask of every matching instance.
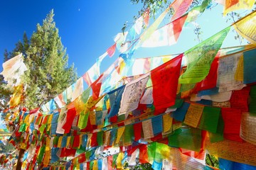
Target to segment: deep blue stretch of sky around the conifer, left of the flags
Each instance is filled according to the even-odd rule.
[[[141,6],[132,5],[129,0],[1,1],[0,63],[4,49],[13,50],[25,30],[30,37],[36,24],[42,24],[52,8],[69,63],[75,63],[81,76],[114,44],[114,35],[121,31],[125,21],[133,21]]]

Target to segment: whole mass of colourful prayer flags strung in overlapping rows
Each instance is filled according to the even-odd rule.
[[[204,11],[209,2],[204,3],[200,11]],[[174,1],[142,35],[139,35],[140,18],[133,27],[139,38],[131,39],[130,46],[125,49],[122,48],[126,44],[125,36],[131,36],[132,32],[118,35],[114,45],[99,57],[87,73],[42,106],[43,113],[38,109],[17,111],[19,126],[11,135],[10,142],[26,149],[23,168],[31,169],[39,164],[46,167],[60,158],[74,157],[72,162],[66,162],[65,166],[57,169],[74,166],[77,169],[102,169],[103,159],[92,161],[96,149],[102,146],[136,148],[136,145],[144,145],[139,152],[144,156],[141,162],[149,162],[154,169],[178,166],[164,161],[169,155],[167,153],[174,153],[169,152],[173,147],[180,148],[178,153],[183,154],[187,149],[190,157],[192,152],[195,155],[208,149],[220,154],[223,159],[235,161],[232,157],[236,157],[242,164],[249,162],[255,165],[253,159],[247,157],[247,152],[240,151],[241,159],[232,150],[239,146],[253,152],[255,147],[256,141],[250,130],[254,124],[247,125],[253,122],[255,114],[255,88],[250,86],[256,81],[253,77],[253,45],[251,49],[232,55],[221,55],[219,49],[230,30],[228,27],[181,55],[132,60],[133,52],[138,47],[152,45],[154,40],[159,41],[157,45],[169,45],[170,40],[177,40],[189,16],[189,13],[183,13],[190,4],[191,1],[187,0]],[[171,7],[175,11],[171,23],[156,30]],[[252,43],[255,42],[253,21],[255,12],[233,24],[238,33]],[[167,32],[172,34],[164,39]],[[163,39],[157,34],[164,35]],[[100,62],[107,55],[112,57],[116,48],[122,49],[123,53],[100,74]],[[144,63],[143,69],[138,71],[134,68],[132,77],[127,77],[131,68],[136,67],[135,63]],[[84,81],[88,84],[87,89]],[[13,106],[22,100],[21,91],[23,86],[17,86],[12,97]],[[252,98],[251,103],[247,103],[249,97]],[[206,134],[210,137],[207,138]],[[164,141],[168,146],[155,141]],[[223,148],[222,144],[230,146],[228,154],[217,149]],[[164,152],[160,149],[162,147]],[[82,156],[76,157],[80,152]],[[107,157],[108,165],[114,166],[114,157],[119,160],[116,165],[122,168],[124,155],[120,152],[110,157],[110,162]],[[146,155],[150,159],[146,159]],[[167,162],[170,160],[167,159]],[[205,167],[202,165],[202,169]]]

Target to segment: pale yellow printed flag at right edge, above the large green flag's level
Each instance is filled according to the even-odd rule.
[[[243,38],[256,44],[256,11],[235,23],[234,27]]]

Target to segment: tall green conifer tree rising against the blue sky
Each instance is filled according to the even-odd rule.
[[[42,26],[37,24],[30,40],[24,33],[23,43],[19,41],[16,45],[19,52],[23,51],[28,68],[22,77],[26,87],[23,104],[30,109],[50,101],[77,79],[74,66],[68,67],[68,55],[53,16],[52,10],[43,20]]]

